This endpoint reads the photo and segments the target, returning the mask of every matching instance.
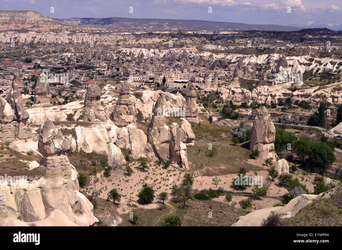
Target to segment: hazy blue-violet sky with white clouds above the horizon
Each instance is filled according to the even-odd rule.
[[[342,24],[341,0],[0,0],[0,10],[38,11],[51,18],[169,18],[278,25],[326,18]]]

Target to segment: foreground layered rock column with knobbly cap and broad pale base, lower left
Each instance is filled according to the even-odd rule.
[[[65,154],[68,143],[50,119],[40,128],[38,149],[43,155],[39,169],[44,176],[26,186],[1,186],[4,200],[11,207],[11,220],[18,222],[15,218],[20,216],[24,222],[60,226],[98,222],[93,216],[93,205],[78,192],[76,169]],[[50,219],[58,215],[57,210],[61,212],[59,216],[65,217],[63,220]]]

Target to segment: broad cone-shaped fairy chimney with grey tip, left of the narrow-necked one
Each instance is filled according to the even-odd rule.
[[[93,81],[87,89],[82,114],[84,122],[110,122],[101,102],[101,89],[95,81]]]

